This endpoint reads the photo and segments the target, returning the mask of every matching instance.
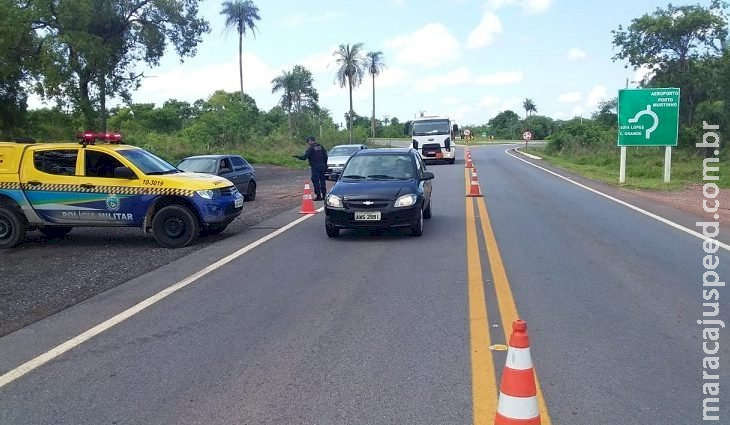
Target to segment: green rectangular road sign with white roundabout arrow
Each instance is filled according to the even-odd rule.
[[[679,89],[618,92],[619,146],[677,146]]]

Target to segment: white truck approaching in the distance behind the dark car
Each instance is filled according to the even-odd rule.
[[[413,149],[424,160],[456,161],[455,134],[459,126],[446,117],[425,116],[406,124],[403,132],[411,136]]]

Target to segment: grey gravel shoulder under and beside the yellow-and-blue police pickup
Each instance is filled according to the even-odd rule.
[[[168,264],[301,204],[308,170],[256,166],[256,200],[220,235],[161,248],[139,229],[76,228],[63,240],[31,232],[0,252],[0,336]]]

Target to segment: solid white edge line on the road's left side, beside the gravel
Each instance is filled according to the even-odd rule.
[[[324,210],[324,207],[320,207],[317,209],[317,212],[321,212]],[[254,241],[243,248],[239,249],[238,251],[233,252],[232,254],[229,254],[220,260],[216,261],[215,263],[206,266],[203,269],[198,270],[197,272],[191,274],[190,276],[186,277],[185,279],[168,286],[167,288],[163,289],[162,291],[152,295],[151,297],[140,301],[139,303],[135,304],[134,306],[122,311],[121,313],[116,314],[115,316],[105,320],[104,322],[94,326],[93,328],[69,339],[68,341],[57,345],[56,347],[46,351],[45,353],[23,363],[22,365],[16,367],[15,369],[12,369],[5,374],[0,376],[0,388],[4,387],[5,385],[15,381],[16,379],[20,378],[21,376],[25,375],[28,372],[33,371],[34,369],[43,366],[44,364],[48,363],[49,361],[55,359],[56,357],[60,356],[61,354],[83,344],[84,342],[88,341],[89,339],[99,335],[100,333],[112,328],[113,326],[129,319],[130,317],[134,316],[135,314],[141,312],[142,310],[156,304],[158,301],[166,298],[168,295],[172,295],[175,292],[179,291],[180,289],[192,284],[193,282],[197,281],[201,277],[207,275],[208,273],[211,273],[215,271],[216,269],[219,269],[223,267],[224,265],[230,263],[231,261],[235,260],[236,258],[242,256],[243,254],[253,250],[254,248],[270,241],[271,239],[279,236],[280,234],[286,232],[287,230],[291,229],[292,227],[296,226],[297,224],[303,222],[304,220],[307,220],[308,218],[314,216],[314,214],[307,214],[303,217],[300,217],[291,223],[281,227],[280,229],[277,229],[268,235],[264,236],[263,238]]]

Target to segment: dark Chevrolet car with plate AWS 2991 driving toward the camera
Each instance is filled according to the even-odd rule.
[[[433,173],[412,149],[365,149],[345,165],[325,199],[325,230],[406,228],[423,234],[431,218]]]

